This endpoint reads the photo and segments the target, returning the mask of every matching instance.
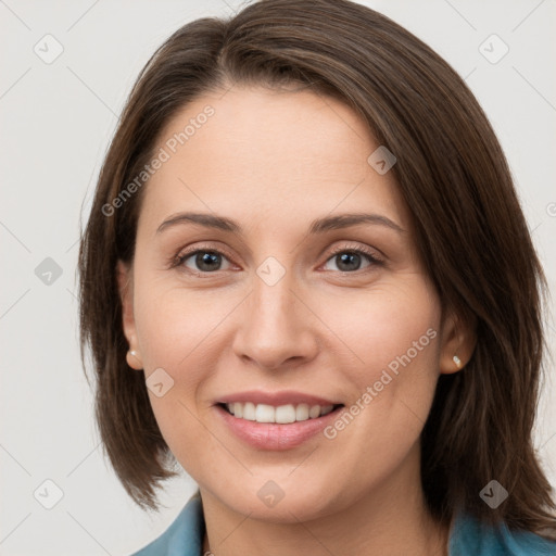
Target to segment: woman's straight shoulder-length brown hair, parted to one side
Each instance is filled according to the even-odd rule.
[[[439,519],[463,507],[482,521],[554,533],[555,503],[531,440],[545,280],[505,155],[444,60],[390,18],[345,0],[262,0],[227,21],[189,23],[159,48],[129,94],[79,252],[81,357],[89,343],[97,421],[127,492],[156,508],[154,489],[175,475],[175,459],[144,377],[126,364],[116,283],[117,261],[134,257],[142,189],[110,216],[103,206],[141,172],[178,110],[232,84],[300,84],[341,99],[395,154],[392,172],[426,268],[443,306],[469,317],[477,333],[465,369],[441,376],[422,431],[427,502]],[[479,496],[492,479],[509,492],[496,509]]]

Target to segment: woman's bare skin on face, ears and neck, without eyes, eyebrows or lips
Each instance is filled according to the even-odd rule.
[[[211,104],[215,114],[152,176],[136,256],[118,264],[128,363],[174,387],[149,391],[169,448],[198,482],[217,556],[447,554],[448,530],[429,515],[419,435],[437,380],[469,359],[473,341],[443,309],[425,274],[410,213],[392,172],[367,157],[379,146],[343,103],[307,90],[236,86],[199,98],[161,134],[160,147]],[[243,235],[197,224],[160,225],[181,211],[237,220]],[[321,235],[312,220],[374,213],[403,231],[363,224]],[[224,250],[216,270],[186,249]],[[342,266],[334,248],[367,248]],[[345,250],[342,250],[343,253]],[[268,257],[283,277],[256,274]],[[352,268],[352,269],[350,269]],[[203,273],[202,276],[194,271]],[[317,434],[286,451],[255,450],[220,421],[214,401],[252,389],[298,390],[346,407],[396,356],[430,343],[333,440]],[[267,481],[283,498],[267,507]]]

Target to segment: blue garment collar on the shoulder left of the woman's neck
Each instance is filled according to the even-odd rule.
[[[199,556],[204,536],[199,490],[164,533],[131,556]]]

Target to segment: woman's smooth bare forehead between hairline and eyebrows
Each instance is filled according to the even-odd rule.
[[[140,219],[211,210],[293,224],[365,207],[408,226],[393,173],[367,162],[378,147],[354,111],[308,90],[205,94],[160,134],[154,152],[167,160],[147,185]]]

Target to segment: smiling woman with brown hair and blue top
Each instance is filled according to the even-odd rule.
[[[544,278],[458,75],[344,0],[178,29],[141,72],[80,262],[137,554],[556,554],[531,441]]]

